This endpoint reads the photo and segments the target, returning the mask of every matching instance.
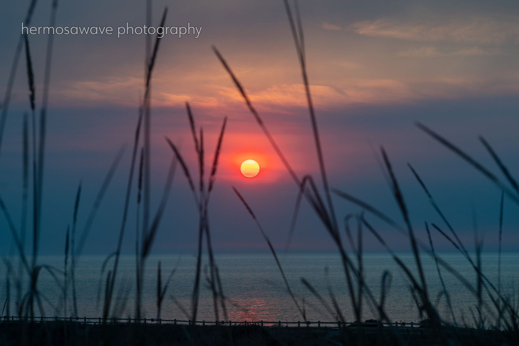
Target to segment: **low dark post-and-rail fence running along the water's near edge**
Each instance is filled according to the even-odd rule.
[[[153,323],[161,325],[164,324],[187,324],[187,325],[220,325],[220,326],[233,326],[233,325],[258,325],[262,327],[274,327],[274,328],[321,328],[324,327],[327,328],[333,328],[333,329],[341,329],[341,328],[351,328],[352,330],[358,330],[363,329],[366,331],[377,331],[378,329],[384,328],[398,328],[398,329],[405,329],[405,328],[411,328],[412,331],[419,331],[419,330],[425,330],[429,329],[427,325],[419,324],[419,323],[406,323],[406,322],[394,322],[394,323],[388,323],[388,322],[363,322],[363,323],[357,323],[357,322],[343,322],[343,321],[335,321],[335,322],[324,322],[324,321],[297,321],[297,322],[282,322],[282,321],[191,321],[191,320],[165,320],[165,319],[132,319],[132,318],[118,318],[118,317],[107,317],[106,319],[103,319],[102,317],[45,317],[45,316],[3,316],[0,317],[0,319],[3,319],[3,322],[17,322],[17,321],[24,321],[24,322],[33,322],[33,323],[49,323],[49,322],[58,322],[58,321],[64,321],[64,322],[74,322],[78,324],[128,324],[128,323]],[[290,326],[289,326],[290,325]],[[297,326],[296,326],[297,325]],[[444,328],[447,326],[443,326]],[[378,328],[378,329],[375,329]],[[455,329],[465,329],[465,328],[459,328],[459,327],[448,327]]]

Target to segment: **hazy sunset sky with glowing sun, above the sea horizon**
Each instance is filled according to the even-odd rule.
[[[3,97],[29,1],[0,4],[0,92]],[[247,91],[296,174],[312,175],[322,191],[301,70],[283,2],[153,1],[152,25],[168,8],[169,27],[196,27],[160,41],[151,94],[152,210],[158,207],[173,152],[181,149],[191,172],[197,166],[185,102],[203,128],[206,165],[228,117],[216,183],[209,203],[212,242],[218,251],[266,251],[236,187],[274,246],[285,248],[297,186],[245,107],[211,46],[223,54]],[[485,250],[498,246],[500,190],[452,151],[419,130],[417,121],[445,136],[496,174],[478,137],[519,174],[519,5],[511,1],[300,1],[312,99],[330,185],[351,193],[403,224],[380,169],[380,146],[392,162],[417,237],[427,242],[425,222],[445,228],[407,167],[424,179],[467,247],[474,231]],[[48,26],[51,2],[39,0],[30,26]],[[85,253],[115,250],[122,219],[139,100],[144,93],[145,35],[121,34],[146,24],[145,1],[59,1],[55,26],[111,26],[112,34],[54,35],[48,107],[42,232],[44,254],[64,251],[78,184],[83,192],[78,229],[83,229],[103,178],[119,148],[127,149],[102,201]],[[71,29],[72,30],[72,29]],[[126,31],[126,30],[125,30]],[[176,31],[176,29],[175,29]],[[182,32],[182,29],[180,29]],[[151,36],[151,35],[150,35]],[[180,37],[179,37],[180,36]],[[198,36],[198,37],[196,37]],[[29,34],[36,84],[42,100],[47,34]],[[155,39],[155,36],[153,37]],[[24,53],[24,52],[23,52]],[[20,225],[22,117],[30,110],[22,55],[0,149],[0,195]],[[260,173],[240,173],[254,159]],[[500,176],[501,177],[501,176]],[[135,185],[135,182],[134,182]],[[134,189],[135,191],[135,189]],[[134,251],[136,196],[133,193],[124,251]],[[332,196],[346,241],[344,217],[359,206]],[[503,249],[519,250],[517,205],[504,202]],[[409,242],[372,215],[366,219],[393,250]],[[13,252],[4,217],[0,253]],[[197,206],[177,169],[155,242],[155,253],[192,251],[197,244]],[[18,226],[19,228],[19,226]],[[433,233],[439,250],[454,250]],[[29,240],[27,241],[30,245]],[[366,251],[381,250],[366,233]],[[303,201],[290,248],[323,251],[336,247],[316,213]]]

